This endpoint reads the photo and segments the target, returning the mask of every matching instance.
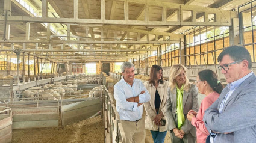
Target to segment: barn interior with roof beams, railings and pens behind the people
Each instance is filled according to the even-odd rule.
[[[65,127],[101,115],[104,141],[122,141],[113,85],[125,61],[142,81],[154,64],[168,79],[180,63],[190,81],[211,69],[225,83],[217,56],[241,45],[255,73],[255,6],[249,0],[0,0],[0,121],[6,124],[0,140],[14,142],[16,129]],[[40,90],[48,89],[58,94],[43,100]]]

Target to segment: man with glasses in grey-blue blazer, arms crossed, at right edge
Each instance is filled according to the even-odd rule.
[[[228,85],[205,111],[211,142],[256,142],[256,76],[245,47],[231,46],[218,56]]]

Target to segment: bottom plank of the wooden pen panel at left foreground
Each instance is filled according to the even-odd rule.
[[[13,129],[28,129],[39,127],[58,127],[58,120],[13,122]]]

